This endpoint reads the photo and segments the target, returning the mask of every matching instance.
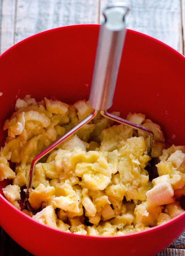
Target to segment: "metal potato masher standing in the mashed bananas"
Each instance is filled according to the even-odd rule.
[[[113,102],[114,90],[126,32],[125,16],[128,12],[129,8],[121,3],[114,3],[104,9],[103,15],[105,21],[101,25],[99,31],[98,48],[96,52],[93,79],[89,96],[89,103],[93,107],[94,111],[84,120],[82,120],[82,122],[77,124],[64,136],[56,140],[53,144],[34,158],[29,172],[26,199],[28,199],[29,193],[32,189],[32,181],[36,163],[51,150],[55,149],[55,147],[57,147],[62,141],[79,130],[84,124],[91,121],[98,112],[100,112],[103,117],[147,133],[150,137],[148,140],[147,153],[148,155],[151,154],[153,144],[153,132],[151,130],[107,112],[107,110],[112,106]]]

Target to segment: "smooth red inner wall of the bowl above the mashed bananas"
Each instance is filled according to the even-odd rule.
[[[38,101],[46,96],[66,103],[88,99],[98,31],[99,25],[58,28],[32,36],[1,55],[1,145],[6,136],[2,131],[4,120],[13,112],[18,97],[30,94]],[[122,117],[129,112],[144,113],[161,126],[167,142],[183,145],[184,74],[185,58],[180,53],[151,37],[128,30],[110,111],[120,111]],[[0,182],[1,187],[4,184]],[[6,203],[3,197],[0,200]],[[177,230],[182,232],[182,227]],[[178,235],[173,234],[158,250]],[[138,254],[137,249],[133,255],[149,255],[144,253],[144,247],[142,250],[143,254]],[[151,255],[157,251],[151,249]]]

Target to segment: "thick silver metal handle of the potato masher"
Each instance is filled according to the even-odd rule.
[[[95,110],[112,106],[119,64],[125,38],[125,15],[129,8],[122,4],[108,6],[100,27],[89,103]]]

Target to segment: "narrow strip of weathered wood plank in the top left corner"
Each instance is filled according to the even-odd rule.
[[[16,14],[16,1],[0,1],[1,16],[1,53],[6,51],[14,42],[14,24]]]

